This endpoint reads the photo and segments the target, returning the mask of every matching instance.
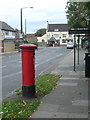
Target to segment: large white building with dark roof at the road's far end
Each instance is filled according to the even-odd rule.
[[[52,36],[56,39],[55,43],[60,45],[66,45],[67,42],[74,40],[73,35],[69,34],[68,24],[47,24],[46,34],[38,37],[38,43],[48,43]]]

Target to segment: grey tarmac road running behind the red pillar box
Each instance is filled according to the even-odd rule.
[[[72,50],[66,46],[39,47],[35,52],[35,75],[51,72]],[[1,59],[1,58],[0,58]],[[22,86],[21,53],[2,55],[2,97],[5,98]]]

